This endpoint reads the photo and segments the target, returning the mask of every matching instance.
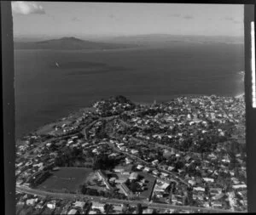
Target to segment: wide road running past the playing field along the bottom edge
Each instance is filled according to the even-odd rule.
[[[108,203],[108,204],[130,204],[130,205],[141,204],[142,206],[147,206],[147,207],[156,208],[156,209],[177,209],[177,210],[189,210],[189,211],[201,210],[201,212],[234,212],[234,211],[229,211],[224,209],[214,209],[214,208],[206,208],[206,207],[174,206],[174,205],[168,205],[163,203],[151,203],[151,202],[145,202],[145,201],[126,201],[126,200],[118,200],[118,199],[108,199],[100,196],[91,196],[91,195],[52,193],[44,190],[27,188],[24,186],[16,186],[16,191],[23,192],[26,194],[31,194],[31,195],[38,195],[42,197],[51,196],[58,199],[75,200],[75,199],[88,198],[90,199],[90,201],[100,201],[102,203]]]

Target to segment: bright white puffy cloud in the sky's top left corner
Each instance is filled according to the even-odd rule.
[[[35,2],[12,2],[12,11],[15,14],[45,14],[43,6]]]

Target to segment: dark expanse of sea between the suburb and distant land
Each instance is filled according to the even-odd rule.
[[[241,44],[15,50],[16,138],[112,95],[146,103],[183,94],[236,96],[244,92],[241,71]]]

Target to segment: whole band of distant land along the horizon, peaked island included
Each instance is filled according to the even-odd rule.
[[[57,39],[48,39],[37,42],[25,42],[15,39],[15,49],[63,49],[63,50],[79,50],[79,49],[119,49],[119,48],[136,48],[144,46],[165,46],[173,45],[177,42],[201,43],[201,44],[243,44],[241,37],[201,37],[201,36],[176,36],[166,34],[149,34],[137,36],[119,36],[106,37],[104,39],[83,40],[77,37],[61,37]]]

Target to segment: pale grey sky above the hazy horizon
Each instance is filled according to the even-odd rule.
[[[243,36],[243,5],[12,2],[15,37]]]

